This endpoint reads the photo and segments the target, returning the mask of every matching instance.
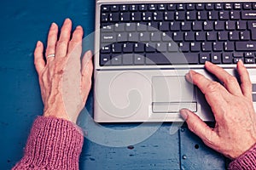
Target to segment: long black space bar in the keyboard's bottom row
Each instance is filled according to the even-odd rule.
[[[198,54],[183,53],[151,53],[146,54],[148,65],[184,65],[198,64]]]

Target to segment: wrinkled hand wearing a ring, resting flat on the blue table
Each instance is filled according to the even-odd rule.
[[[84,54],[81,65],[83,28],[77,26],[72,39],[71,30],[72,21],[67,19],[58,40],[58,26],[53,23],[49,29],[46,62],[44,44],[38,42],[34,64],[44,102],[44,116],[76,122],[90,92],[93,65],[90,51]]]

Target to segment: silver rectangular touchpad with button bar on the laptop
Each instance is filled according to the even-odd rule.
[[[154,112],[196,111],[195,88],[185,77],[152,77],[152,93]]]

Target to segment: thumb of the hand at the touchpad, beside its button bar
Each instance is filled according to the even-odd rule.
[[[187,122],[190,131],[200,137],[205,144],[214,147],[212,144],[218,142],[218,134],[211,127],[208,127],[199,116],[187,109],[182,109],[180,115]]]

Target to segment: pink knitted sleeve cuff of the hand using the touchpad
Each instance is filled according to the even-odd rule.
[[[229,165],[230,170],[256,169],[256,144]]]

